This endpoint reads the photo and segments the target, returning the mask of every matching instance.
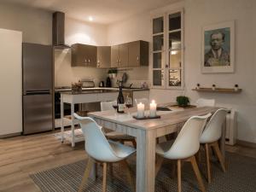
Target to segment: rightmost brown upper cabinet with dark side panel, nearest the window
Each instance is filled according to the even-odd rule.
[[[148,42],[131,42],[128,44],[128,50],[128,67],[148,66]]]

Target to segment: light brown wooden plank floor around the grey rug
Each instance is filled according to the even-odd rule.
[[[227,147],[230,152],[256,158],[256,148]],[[0,139],[0,191],[38,192],[29,174],[86,158],[84,143],[71,148],[54,132]]]

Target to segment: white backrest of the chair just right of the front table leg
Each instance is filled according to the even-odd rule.
[[[172,147],[165,153],[165,157],[177,160],[185,159],[196,154],[200,147],[201,132],[211,115],[211,113],[208,113],[204,116],[189,118],[183,125],[182,130],[178,133]]]

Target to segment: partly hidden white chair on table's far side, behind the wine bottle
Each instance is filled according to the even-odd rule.
[[[108,110],[113,110],[113,102],[101,102],[101,110],[102,111],[108,111]],[[120,143],[125,143],[125,142],[131,142],[133,147],[136,148],[137,147],[137,143],[135,140],[135,137],[131,137],[128,136],[124,133],[121,133],[119,131],[110,131],[110,132],[106,132],[105,136],[108,137],[108,139],[111,139],[113,141],[118,141]]]

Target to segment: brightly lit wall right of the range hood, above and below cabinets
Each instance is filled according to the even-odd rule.
[[[66,44],[107,44],[107,26],[66,18]],[[71,67],[71,49],[55,50],[55,86],[67,86],[79,79],[94,79],[96,86],[106,80],[106,69]]]

